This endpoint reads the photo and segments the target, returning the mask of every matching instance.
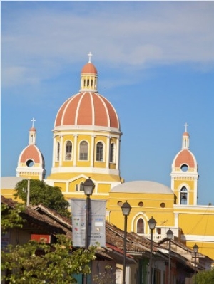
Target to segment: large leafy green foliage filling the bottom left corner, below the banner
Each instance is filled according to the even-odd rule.
[[[1,280],[16,284],[71,284],[76,283],[74,273],[90,273],[88,263],[95,259],[95,247],[71,251],[71,241],[57,236],[54,245],[29,241],[22,246],[9,246],[1,252],[1,270],[10,271]]]

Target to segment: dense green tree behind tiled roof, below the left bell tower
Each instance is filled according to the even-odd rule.
[[[16,184],[14,194],[26,202],[27,199],[27,179],[22,180]],[[39,179],[31,179],[30,181],[30,203],[32,205],[44,204],[50,209],[58,211],[63,216],[70,216],[68,212],[69,203],[64,198],[61,189],[58,186],[49,186],[44,181]]]

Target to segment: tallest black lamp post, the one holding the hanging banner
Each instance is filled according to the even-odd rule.
[[[83,183],[83,189],[86,194],[86,239],[85,239],[85,248],[88,249],[88,243],[89,243],[89,214],[90,214],[90,196],[93,194],[93,189],[95,187],[95,184],[92,182],[90,177],[86,179],[86,182]],[[87,284],[87,275],[84,274],[84,284]]]

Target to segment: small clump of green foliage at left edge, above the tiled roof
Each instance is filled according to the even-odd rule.
[[[1,204],[1,233],[6,233],[9,228],[22,228],[24,221],[19,216],[21,211],[24,211],[23,204],[17,204],[14,209]]]

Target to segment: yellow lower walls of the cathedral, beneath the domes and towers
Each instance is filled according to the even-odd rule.
[[[69,174],[68,174],[69,175]],[[72,175],[72,174],[71,174]],[[111,176],[108,179],[113,181]],[[107,180],[107,177],[100,177],[98,174],[93,177],[98,180]],[[68,193],[66,192],[66,182],[55,182],[54,186],[61,187],[66,199],[71,198],[86,198],[83,191],[75,191],[76,183],[85,182],[85,178],[79,177],[69,182]],[[174,227],[175,216],[178,216],[178,227],[181,228],[181,235],[187,238],[193,236],[198,241],[187,240],[183,243],[193,248],[197,243],[199,252],[214,259],[214,241],[206,241],[210,237],[214,237],[214,208],[213,206],[174,206],[173,194],[135,194],[135,193],[116,193],[110,192],[110,184],[101,182],[94,189],[91,199],[106,200],[106,210],[109,211],[109,221],[115,224],[118,228],[124,229],[124,216],[121,210],[121,205],[128,201],[131,205],[131,213],[128,216],[128,231],[136,231],[136,222],[141,217],[145,223],[145,233],[150,233],[148,229],[148,219],[152,216],[156,219],[156,228],[158,226]],[[109,194],[108,194],[109,193]],[[13,189],[1,189],[1,194],[6,198],[14,199]],[[120,202],[121,201],[121,202]],[[143,202],[143,206],[141,206]],[[120,203],[120,204],[118,204]],[[165,207],[161,207],[161,203],[165,203]],[[156,231],[154,231],[156,233]],[[180,241],[182,241],[180,239]]]

